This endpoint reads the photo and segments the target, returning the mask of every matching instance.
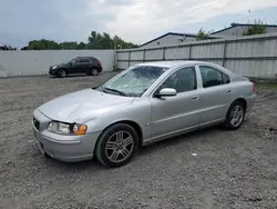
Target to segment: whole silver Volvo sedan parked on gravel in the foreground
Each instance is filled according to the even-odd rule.
[[[140,146],[218,123],[238,129],[255,97],[253,82],[214,63],[140,63],[40,106],[33,131],[48,157],[119,167]]]

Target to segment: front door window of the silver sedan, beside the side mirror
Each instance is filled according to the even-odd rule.
[[[191,91],[197,88],[195,68],[183,68],[171,74],[158,88],[173,88],[178,93]]]

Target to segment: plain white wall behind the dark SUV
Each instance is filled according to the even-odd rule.
[[[113,70],[113,50],[0,51],[0,77],[47,74],[50,66],[78,56],[95,57],[102,62],[103,71]]]

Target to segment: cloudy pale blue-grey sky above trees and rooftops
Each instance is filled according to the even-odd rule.
[[[232,22],[277,23],[277,0],[1,0],[0,46],[88,41],[91,31],[137,44],[166,32],[220,30]],[[250,10],[250,14],[249,14]]]

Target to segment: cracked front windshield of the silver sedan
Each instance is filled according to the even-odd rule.
[[[96,90],[127,97],[141,97],[166,68],[153,66],[132,67],[123,74],[119,74],[100,86]]]

